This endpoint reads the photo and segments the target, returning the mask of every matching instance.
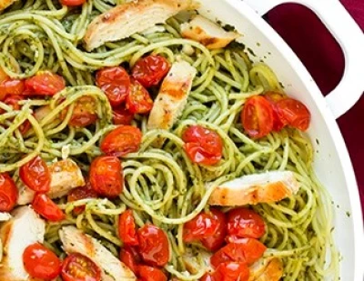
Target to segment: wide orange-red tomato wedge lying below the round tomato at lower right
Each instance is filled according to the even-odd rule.
[[[242,262],[252,265],[263,256],[266,249],[267,247],[257,239],[237,239],[236,242],[228,243],[211,256],[211,265],[215,268],[225,262]]]

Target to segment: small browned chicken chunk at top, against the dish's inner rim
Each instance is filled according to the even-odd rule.
[[[189,23],[181,25],[183,37],[205,45],[208,49],[224,48],[240,37],[238,32],[226,31],[205,16],[197,15]]]

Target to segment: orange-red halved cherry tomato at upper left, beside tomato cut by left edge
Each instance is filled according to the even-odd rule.
[[[26,95],[56,95],[66,87],[65,79],[50,71],[39,71],[25,80]]]

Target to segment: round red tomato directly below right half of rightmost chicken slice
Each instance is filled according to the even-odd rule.
[[[253,210],[237,208],[227,213],[227,234],[242,238],[260,238],[266,232],[264,220]]]

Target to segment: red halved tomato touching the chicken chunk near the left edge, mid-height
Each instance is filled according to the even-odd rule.
[[[19,169],[21,180],[30,189],[39,193],[47,193],[51,188],[51,173],[45,160],[36,156]]]

